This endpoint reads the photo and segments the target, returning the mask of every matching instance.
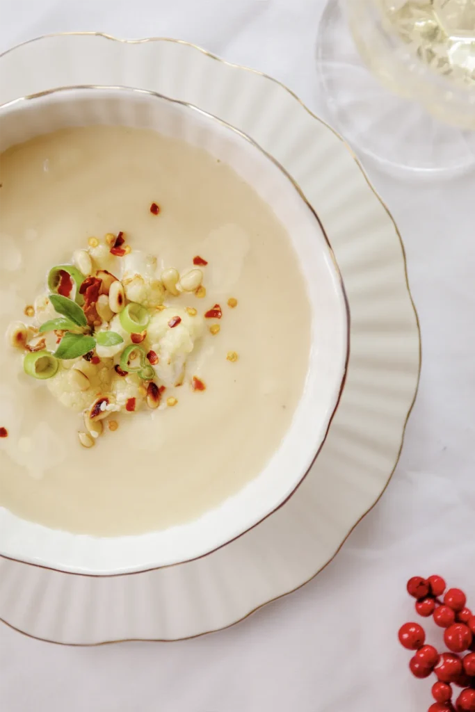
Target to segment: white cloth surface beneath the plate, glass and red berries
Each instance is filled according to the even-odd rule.
[[[314,46],[323,0],[0,0],[0,51],[44,33],[172,36],[269,73],[325,115]],[[390,137],[388,137],[390,140]],[[178,643],[68,648],[0,624],[5,712],[425,712],[397,629],[405,582],[439,573],[475,609],[475,180],[370,176],[407,250],[423,368],[390,486],[306,587]],[[427,624],[429,642],[442,635]]]

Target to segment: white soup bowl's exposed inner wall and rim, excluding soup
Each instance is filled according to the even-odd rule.
[[[205,555],[291,496],[318,455],[338,407],[348,361],[349,313],[323,229],[291,177],[249,137],[196,107],[128,88],[52,90],[1,108],[0,151],[41,133],[97,124],[152,128],[204,147],[231,165],[286,226],[312,308],[308,373],[291,426],[259,476],[220,506],[166,530],[110,538],[49,529],[0,508],[0,555],[58,570],[113,575]]]

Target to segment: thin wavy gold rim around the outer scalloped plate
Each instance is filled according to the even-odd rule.
[[[234,625],[240,623],[241,621],[244,621],[246,618],[248,618],[249,616],[251,616],[251,615],[254,614],[255,612],[259,611],[259,609],[263,608],[263,607],[266,606],[267,604],[272,603],[272,602],[275,602],[275,601],[277,601],[277,600],[279,600],[279,599],[281,599],[281,598],[284,598],[284,597],[286,597],[286,596],[288,596],[288,595],[291,595],[292,593],[294,593],[294,592],[298,591],[299,589],[301,589],[303,586],[307,585],[310,581],[312,581],[316,576],[318,576],[318,574],[321,573],[321,572],[333,561],[333,559],[335,558],[335,556],[338,555],[338,553],[340,552],[340,549],[343,547],[343,545],[345,544],[345,542],[346,542],[346,540],[348,539],[348,537],[350,536],[350,534],[353,533],[353,530],[355,530],[355,528],[357,527],[357,525],[360,524],[360,522],[365,518],[365,516],[366,516],[368,513],[370,513],[370,511],[372,511],[372,509],[377,505],[377,503],[380,501],[380,499],[382,498],[383,494],[385,493],[385,491],[386,491],[386,489],[387,489],[387,486],[389,485],[389,483],[390,483],[390,481],[391,481],[391,479],[392,479],[392,476],[393,476],[393,474],[395,473],[395,470],[396,470],[396,468],[397,468],[397,464],[398,464],[398,462],[399,462],[399,460],[400,460],[400,456],[401,456],[401,452],[402,452],[402,446],[403,446],[403,444],[404,444],[404,434],[405,434],[407,422],[408,422],[408,420],[409,420],[409,416],[410,416],[410,414],[411,414],[411,412],[412,412],[412,408],[414,407],[414,402],[415,402],[415,400],[416,400],[416,398],[417,398],[417,391],[418,391],[418,389],[419,389],[419,382],[420,382],[420,375],[421,375],[422,343],[421,343],[420,323],[419,323],[419,315],[418,315],[418,313],[417,313],[417,309],[416,309],[416,306],[415,306],[415,304],[414,304],[414,299],[412,298],[411,289],[410,289],[410,287],[409,287],[409,279],[408,279],[408,275],[407,275],[407,257],[406,257],[406,252],[405,252],[405,249],[404,249],[404,244],[403,244],[403,242],[402,242],[402,236],[401,236],[400,231],[399,231],[399,229],[398,229],[398,227],[397,227],[397,224],[396,224],[396,222],[395,222],[395,219],[392,217],[392,214],[391,214],[391,212],[390,212],[390,209],[388,208],[387,204],[386,204],[385,201],[382,199],[382,197],[380,196],[380,194],[377,192],[377,190],[372,186],[372,183],[370,182],[370,179],[367,177],[367,174],[366,174],[366,172],[365,172],[365,169],[362,167],[362,163],[360,162],[360,159],[357,157],[357,155],[356,155],[355,152],[353,151],[352,147],[350,147],[350,145],[345,141],[345,139],[343,138],[343,136],[338,133],[338,131],[336,131],[336,130],[335,130],[333,127],[331,127],[327,122],[325,122],[323,119],[321,119],[320,117],[318,117],[315,113],[313,113],[313,111],[311,111],[311,110],[308,108],[308,106],[306,106],[306,104],[303,103],[303,101],[301,100],[301,98],[299,98],[298,95],[296,95],[296,93],[294,93],[293,90],[289,89],[285,84],[281,83],[281,82],[278,81],[277,79],[275,79],[275,78],[271,77],[270,75],[268,75],[268,74],[266,74],[266,73],[264,73],[264,72],[261,72],[261,71],[259,71],[259,70],[257,70],[257,69],[254,69],[254,68],[251,68],[251,67],[246,67],[246,66],[239,65],[239,64],[236,64],[236,63],[233,63],[233,62],[226,61],[226,60],[222,59],[221,57],[216,56],[216,55],[214,55],[213,53],[211,53],[211,52],[205,50],[204,48],[199,47],[199,46],[197,46],[197,45],[194,45],[194,44],[191,43],[191,42],[187,42],[187,41],[185,41],[185,40],[178,40],[178,39],[174,39],[174,38],[169,38],[169,37],[149,37],[149,38],[142,38],[142,39],[137,39],[137,40],[125,40],[125,39],[121,39],[121,38],[114,37],[114,36],[112,36],[112,35],[108,35],[108,34],[103,33],[103,32],[66,32],[66,33],[50,33],[50,34],[46,34],[46,35],[42,35],[42,36],[33,38],[33,39],[31,39],[31,40],[27,40],[27,41],[25,41],[25,42],[19,43],[18,45],[14,46],[14,47],[9,48],[9,49],[6,50],[4,53],[1,53],[1,54],[0,54],[0,58],[2,58],[2,57],[4,57],[4,56],[6,56],[7,54],[9,54],[9,53],[11,53],[11,52],[13,52],[13,51],[15,51],[15,50],[21,48],[22,46],[31,44],[31,43],[33,43],[33,42],[38,42],[38,41],[42,41],[42,40],[45,40],[45,39],[48,39],[48,38],[63,37],[63,36],[93,36],[93,37],[102,37],[102,38],[107,39],[107,40],[109,40],[109,41],[118,42],[118,43],[122,43],[122,44],[143,44],[143,43],[148,43],[148,42],[170,42],[170,43],[182,44],[182,45],[184,45],[184,46],[193,48],[193,49],[196,50],[196,51],[199,51],[200,53],[204,54],[205,56],[208,56],[209,58],[211,58],[211,59],[213,59],[214,61],[217,61],[217,62],[219,62],[219,63],[221,63],[221,64],[224,64],[224,65],[229,66],[229,67],[232,67],[232,68],[244,70],[244,71],[246,71],[246,72],[250,72],[250,73],[259,75],[259,76],[261,76],[261,77],[263,77],[263,78],[265,78],[265,79],[271,81],[272,83],[278,85],[278,86],[279,86],[281,89],[283,89],[286,93],[288,93],[289,95],[291,95],[291,97],[292,97],[294,100],[296,100],[296,102],[298,102],[298,104],[300,104],[301,107],[302,107],[304,110],[306,110],[306,112],[307,112],[313,119],[315,119],[315,120],[318,121],[321,125],[325,126],[328,130],[330,130],[330,131],[333,133],[333,135],[335,135],[335,137],[337,137],[338,140],[342,143],[343,147],[345,147],[345,150],[348,151],[348,153],[350,154],[350,156],[353,158],[353,160],[354,160],[355,163],[357,164],[358,169],[360,169],[360,172],[362,173],[362,176],[363,176],[363,178],[365,179],[365,181],[366,181],[366,183],[367,183],[367,186],[370,188],[371,192],[375,195],[375,197],[377,198],[377,200],[380,202],[380,204],[382,205],[383,209],[385,210],[385,212],[386,212],[388,218],[389,218],[390,221],[392,222],[392,226],[393,226],[394,229],[395,229],[395,234],[397,235],[397,238],[398,238],[399,241],[400,241],[400,248],[401,248],[401,253],[402,253],[402,260],[403,260],[403,263],[404,263],[404,279],[405,279],[405,282],[406,282],[407,294],[408,294],[408,296],[409,296],[409,300],[410,300],[411,305],[412,305],[412,310],[414,311],[414,318],[415,318],[415,320],[416,320],[416,328],[417,328],[417,335],[418,335],[418,341],[419,341],[418,370],[417,370],[416,384],[415,384],[415,387],[414,387],[414,396],[413,396],[413,398],[412,398],[412,402],[409,404],[409,408],[408,408],[408,410],[407,410],[407,415],[406,415],[406,417],[405,417],[405,419],[404,419],[404,423],[403,423],[403,427],[402,427],[401,444],[400,444],[400,448],[399,448],[399,450],[398,450],[398,452],[397,452],[397,456],[396,456],[396,459],[395,459],[395,465],[394,465],[394,467],[392,468],[392,471],[389,473],[389,475],[388,475],[388,477],[387,477],[387,481],[386,481],[386,483],[385,483],[385,486],[382,488],[382,491],[380,492],[379,496],[377,496],[377,498],[376,498],[375,501],[372,503],[372,505],[371,505],[369,508],[367,508],[367,510],[361,515],[361,517],[360,517],[360,518],[355,522],[355,524],[350,528],[350,530],[348,531],[348,534],[345,535],[345,538],[343,539],[343,541],[340,543],[340,545],[339,545],[338,548],[335,550],[335,552],[333,553],[333,555],[328,559],[328,561],[327,561],[323,566],[321,566],[317,571],[315,571],[315,573],[314,573],[313,575],[311,575],[308,579],[306,579],[305,581],[303,581],[301,584],[299,584],[299,585],[296,586],[295,588],[293,588],[293,589],[291,589],[291,590],[289,590],[289,591],[287,591],[287,592],[285,592],[285,593],[283,593],[283,594],[280,594],[280,595],[278,595],[278,596],[276,596],[276,597],[273,597],[273,598],[271,598],[271,599],[269,599],[269,600],[267,600],[267,601],[265,601],[265,602],[259,604],[259,606],[256,606],[256,607],[254,607],[253,609],[249,610],[248,613],[246,613],[244,616],[241,616],[240,618],[236,619],[234,622],[230,623],[229,625],[222,626],[222,627],[218,627],[218,628],[215,628],[215,629],[210,629],[210,630],[204,631],[204,632],[202,632],[202,633],[197,633],[197,634],[192,635],[192,636],[185,636],[185,637],[176,638],[176,639],[162,639],[162,638],[126,638],[126,639],[117,639],[117,640],[114,639],[114,640],[108,640],[108,641],[96,642],[96,643],[63,643],[63,642],[54,641],[54,640],[51,640],[51,639],[48,639],[48,638],[41,638],[41,637],[33,636],[33,635],[29,634],[29,633],[26,633],[26,632],[22,631],[22,630],[19,629],[19,628],[16,628],[14,625],[10,624],[9,622],[7,622],[6,620],[4,620],[4,619],[2,619],[2,618],[0,617],[0,622],[4,623],[4,624],[5,624],[6,626],[8,626],[9,628],[15,630],[16,632],[21,633],[22,635],[25,635],[25,636],[28,637],[28,638],[32,638],[32,639],[36,639],[36,640],[41,640],[41,641],[43,641],[43,642],[47,642],[47,643],[51,643],[51,644],[65,645],[65,646],[72,646],[72,647],[93,647],[93,646],[111,645],[111,644],[115,644],[115,643],[122,643],[122,642],[129,642],[129,641],[130,641],[130,642],[132,642],[132,641],[140,641],[140,642],[167,642],[167,643],[168,643],[168,642],[175,642],[175,641],[177,641],[177,640],[190,640],[190,639],[202,637],[203,635],[207,635],[207,634],[210,634],[210,633],[218,632],[219,630],[226,630],[226,629],[228,629],[228,628],[234,627]],[[322,229],[323,229],[323,226],[322,226]],[[323,232],[324,232],[324,234],[325,234],[325,231],[323,231]],[[1,557],[1,556],[0,556],[0,557]],[[7,558],[7,557],[3,557],[3,558]],[[24,563],[24,562],[20,562],[20,563]],[[31,564],[26,564],[26,565],[31,565]],[[33,564],[33,566],[35,566],[35,565]],[[61,572],[61,573],[63,573],[63,572]],[[137,573],[138,573],[138,572],[137,572]],[[144,572],[140,572],[140,573],[144,573]],[[71,574],[71,575],[76,575],[76,574]],[[126,575],[127,575],[127,574],[126,574]],[[128,574],[128,575],[130,575],[130,574]]]

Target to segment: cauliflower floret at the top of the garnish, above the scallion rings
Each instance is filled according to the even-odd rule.
[[[163,303],[165,288],[156,277],[157,258],[140,250],[123,258],[122,284],[131,302],[155,308]]]

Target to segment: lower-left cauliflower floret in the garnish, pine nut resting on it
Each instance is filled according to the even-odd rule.
[[[78,359],[75,362],[80,362],[80,370],[90,381],[90,388],[87,391],[80,391],[73,382],[72,365],[74,364],[71,365],[70,361],[61,362],[58,372],[53,378],[46,381],[46,385],[61,404],[80,412],[93,404],[98,392],[107,392],[110,389],[113,370],[111,361],[100,362],[98,365],[84,359]]]

